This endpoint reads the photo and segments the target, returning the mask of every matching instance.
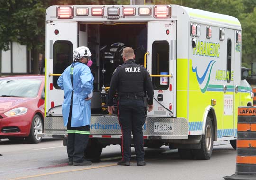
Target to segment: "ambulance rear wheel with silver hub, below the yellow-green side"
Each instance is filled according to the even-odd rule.
[[[205,125],[205,134],[202,135],[201,140],[201,149],[194,149],[193,153],[195,158],[198,160],[208,160],[211,157],[212,149],[213,149],[213,126],[212,126],[212,117],[206,118]]]

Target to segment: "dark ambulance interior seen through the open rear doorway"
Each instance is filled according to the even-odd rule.
[[[80,24],[79,46],[82,45],[89,47],[93,61],[90,67],[94,76],[91,113],[107,113],[108,88],[104,93],[104,87],[110,86],[114,70],[123,64],[123,48],[132,47],[136,63],[144,65],[144,54],[147,52],[147,24]]]

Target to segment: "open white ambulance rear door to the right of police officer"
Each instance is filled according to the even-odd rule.
[[[154,109],[147,116],[176,117],[175,21],[148,22],[147,46],[147,69],[154,88]]]

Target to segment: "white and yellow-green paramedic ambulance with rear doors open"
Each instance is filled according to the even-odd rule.
[[[73,5],[46,10],[45,121],[42,137],[64,138],[64,92],[57,79],[73,62],[73,50],[89,47],[94,76],[90,141],[86,157],[121,144],[117,114],[107,112],[111,75],[132,47],[154,87],[146,111],[144,145],[177,148],[182,158],[210,159],[213,141],[236,148],[237,108],[252,106],[241,67],[237,18],[178,5]],[[132,85],[130,88],[133,88]],[[115,97],[117,102],[117,96]],[[116,105],[116,104],[115,104]]]

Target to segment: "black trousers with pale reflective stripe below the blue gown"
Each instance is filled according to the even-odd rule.
[[[82,162],[84,151],[89,141],[90,125],[81,127],[71,127],[72,108],[68,117],[68,142],[67,154],[70,162]]]

